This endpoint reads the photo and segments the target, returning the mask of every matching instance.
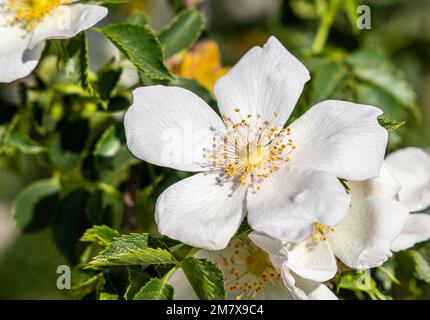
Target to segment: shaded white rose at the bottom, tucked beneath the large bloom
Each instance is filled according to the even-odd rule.
[[[335,300],[324,284],[298,277],[284,266],[287,259],[282,244],[252,232],[249,239],[232,240],[220,251],[199,250],[194,255],[216,263],[224,272],[227,299],[241,300]],[[198,299],[182,269],[167,279],[175,289],[175,299]]]

